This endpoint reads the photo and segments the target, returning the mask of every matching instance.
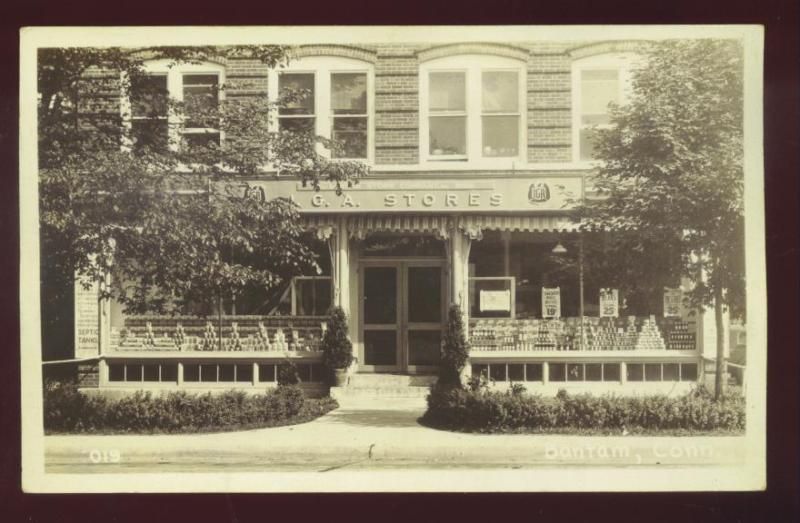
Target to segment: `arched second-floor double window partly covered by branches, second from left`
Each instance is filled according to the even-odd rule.
[[[295,70],[277,74],[278,128],[332,139],[337,144],[332,158],[368,159],[370,70],[360,62],[327,57],[293,65]]]

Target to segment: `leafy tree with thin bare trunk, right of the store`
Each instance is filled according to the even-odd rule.
[[[724,393],[723,312],[744,314],[743,64],[734,41],[652,44],[634,71],[629,103],[597,130],[586,202],[589,229],[622,234],[620,253],[646,270],[662,253],[714,306],[716,395]]]

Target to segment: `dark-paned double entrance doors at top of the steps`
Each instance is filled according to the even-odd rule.
[[[361,369],[410,373],[436,369],[444,318],[442,267],[438,261],[362,265]]]

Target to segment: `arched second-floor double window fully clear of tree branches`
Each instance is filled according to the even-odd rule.
[[[491,162],[524,156],[523,71],[514,60],[486,56],[423,64],[423,158]]]

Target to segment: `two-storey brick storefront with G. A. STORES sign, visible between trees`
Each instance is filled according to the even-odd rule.
[[[626,309],[613,289],[601,291],[609,286],[584,281],[591,260],[572,215],[592,197],[588,133],[606,124],[608,102],[624,102],[637,45],[308,45],[280,74],[226,64],[229,95],[240,77],[274,91],[282,82],[310,88],[315,103],[280,115],[280,125],[344,140],[370,175],[339,195],[268,172],[243,184],[295,201],[330,262],[291,282],[271,310],[134,317],[110,303],[93,310],[91,294],[76,290],[89,303],[76,316],[76,356],[99,354],[84,384],[260,390],[288,358],[304,383],[322,387],[318,344],[330,305],[348,315],[351,372],[430,375],[448,307],[458,304],[468,371],[495,386],[695,385],[704,340],[713,339],[702,311],[674,300]],[[79,339],[78,324],[93,314],[96,332],[83,327]]]

